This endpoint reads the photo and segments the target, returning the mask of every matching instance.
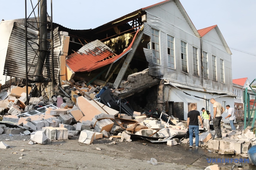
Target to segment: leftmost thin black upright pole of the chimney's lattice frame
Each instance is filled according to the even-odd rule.
[[[25,57],[26,57],[26,104],[28,105],[29,104],[29,101],[28,101],[28,40],[27,40],[27,37],[28,37],[28,33],[27,33],[27,0],[25,0],[25,18],[26,18],[26,21],[25,21]]]

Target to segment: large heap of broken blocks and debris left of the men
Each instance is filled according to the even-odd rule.
[[[55,91],[62,91],[63,96],[49,99],[30,97],[28,106],[25,104],[25,88],[12,86],[7,99],[1,101],[2,106],[3,103],[6,105],[3,110],[8,112],[0,122],[0,134],[30,134],[29,144],[67,140],[76,135],[79,135],[79,142],[86,144],[111,136],[130,142],[131,136],[135,135],[177,145],[179,139],[170,139],[186,133],[186,125],[176,118],[169,117],[169,124],[140,112],[133,112],[132,116],[121,114],[104,105],[97,101],[102,89],[99,86],[86,87],[85,81],[65,83],[59,91]],[[117,90],[110,89],[112,93]]]

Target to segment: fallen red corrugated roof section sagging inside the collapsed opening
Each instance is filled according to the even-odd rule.
[[[133,37],[129,47],[127,47],[126,50],[123,51],[120,55],[116,55],[101,41],[95,40],[83,46],[76,53],[67,56],[66,63],[74,72],[89,72],[106,66],[123,57],[131,50],[132,44],[138,31],[139,30],[137,30],[135,36]]]

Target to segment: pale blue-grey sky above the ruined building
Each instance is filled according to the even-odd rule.
[[[32,0],[33,4],[37,0]],[[50,11],[48,3],[48,14]],[[53,0],[53,22],[70,29],[90,29],[122,17],[161,0]],[[180,0],[196,29],[218,25],[232,52],[233,79],[256,78],[256,1],[255,0]],[[25,18],[25,0],[0,0],[0,19]],[[31,12],[27,0],[27,11]],[[29,14],[28,14],[29,15]],[[32,16],[34,17],[34,16]],[[237,50],[252,53],[249,55]]]

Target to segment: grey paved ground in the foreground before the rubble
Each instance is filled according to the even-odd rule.
[[[109,145],[108,138],[94,140],[93,145],[78,142],[78,136],[65,141],[50,141],[48,144],[29,145],[30,135],[0,135],[0,140],[10,145],[0,149],[0,169],[205,169],[212,165],[206,158],[241,158],[234,155],[219,155],[202,148],[189,148],[187,144],[167,146],[166,143],[151,143],[132,139]],[[10,139],[6,141],[5,139]],[[25,140],[25,141],[24,141]],[[143,145],[146,143],[146,145]],[[101,150],[97,150],[100,148]],[[24,151],[20,151],[24,149]],[[22,156],[22,159],[19,159]],[[155,158],[157,165],[147,164]],[[221,169],[231,169],[233,164],[218,163]],[[245,163],[243,169],[255,166]]]

